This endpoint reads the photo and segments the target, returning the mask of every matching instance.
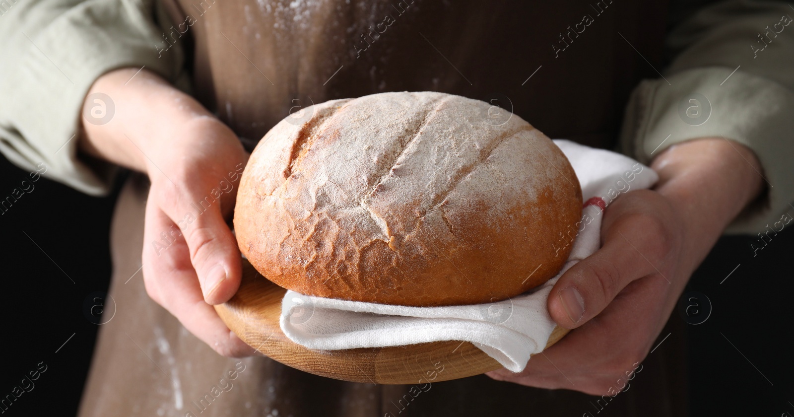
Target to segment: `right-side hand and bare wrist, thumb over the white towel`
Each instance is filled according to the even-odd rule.
[[[674,145],[651,168],[659,183],[607,207],[601,249],[565,272],[549,294],[554,321],[576,330],[522,373],[488,376],[614,396],[615,381],[646,357],[692,272],[763,186],[754,154],[723,138]]]

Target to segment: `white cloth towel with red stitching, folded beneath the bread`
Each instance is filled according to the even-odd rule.
[[[280,326],[293,342],[310,349],[405,346],[460,340],[472,342],[505,368],[521,372],[530,355],[543,350],[555,323],[546,299],[557,279],[600,246],[601,214],[619,195],[649,188],[658,176],[619,153],[555,140],[571,162],[582,187],[582,221],[557,245],[571,255],[561,272],[529,292],[496,303],[448,307],[405,307],[326,299],[287,291]],[[578,234],[578,236],[577,236]]]

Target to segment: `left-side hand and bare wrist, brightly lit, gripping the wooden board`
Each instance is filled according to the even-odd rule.
[[[95,124],[94,93],[112,100],[110,122]],[[87,96],[81,149],[145,172],[143,276],[148,295],[225,356],[254,353],[210,304],[237,292],[241,255],[226,220],[248,160],[237,136],[194,98],[148,71],[102,75]],[[106,106],[110,109],[111,106]]]

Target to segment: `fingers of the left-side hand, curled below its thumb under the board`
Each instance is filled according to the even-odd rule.
[[[161,241],[161,232],[172,230],[172,226],[168,216],[150,200],[146,207],[143,253],[146,291],[187,330],[218,353],[229,357],[251,356],[254,349],[237,338],[214,308],[204,302],[185,241],[177,237],[165,249],[152,245],[152,242]]]

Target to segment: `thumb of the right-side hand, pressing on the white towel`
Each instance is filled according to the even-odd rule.
[[[631,281],[653,271],[653,265],[626,237],[629,234],[611,231],[601,249],[573,265],[554,284],[547,307],[558,325],[568,329],[583,325],[603,311]]]

